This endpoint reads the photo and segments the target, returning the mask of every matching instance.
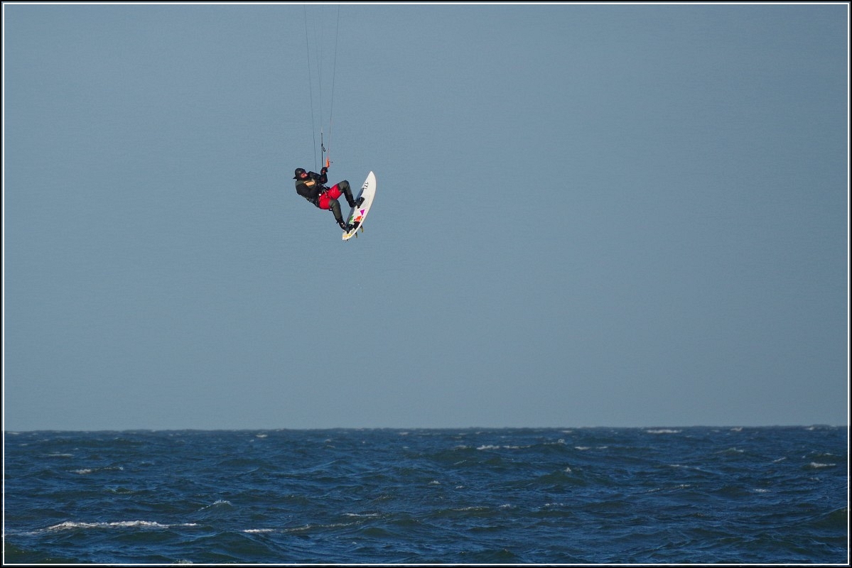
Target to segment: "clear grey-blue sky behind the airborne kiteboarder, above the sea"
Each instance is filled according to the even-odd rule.
[[[846,3],[4,3],[4,427],[846,424],[848,63]]]

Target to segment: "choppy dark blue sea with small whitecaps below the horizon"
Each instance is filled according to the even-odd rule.
[[[5,433],[5,563],[849,562],[846,427]]]

